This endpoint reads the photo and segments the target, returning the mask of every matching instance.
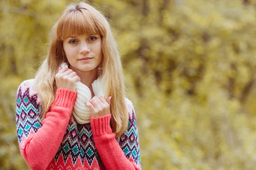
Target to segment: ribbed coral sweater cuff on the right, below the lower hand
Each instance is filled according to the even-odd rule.
[[[111,113],[96,118],[90,117],[93,136],[101,136],[112,133],[112,129],[110,127],[110,119]]]

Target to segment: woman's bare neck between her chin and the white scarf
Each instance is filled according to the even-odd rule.
[[[86,85],[90,89],[90,91],[93,91],[92,83],[98,78],[98,67],[90,71],[80,71],[70,65],[70,69],[75,71],[76,74],[80,77],[81,83]]]

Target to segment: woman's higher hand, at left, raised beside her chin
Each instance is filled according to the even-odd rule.
[[[57,88],[66,88],[76,91],[76,82],[81,81],[80,77],[76,75],[76,72],[69,68],[58,69],[58,73],[55,75],[55,81]]]

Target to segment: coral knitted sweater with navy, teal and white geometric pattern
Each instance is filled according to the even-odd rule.
[[[70,121],[76,91],[58,88],[45,119],[39,121],[40,99],[35,79],[17,89],[16,128],[20,153],[32,170],[141,170],[139,136],[132,102],[125,98],[128,129],[116,138],[111,114]]]

